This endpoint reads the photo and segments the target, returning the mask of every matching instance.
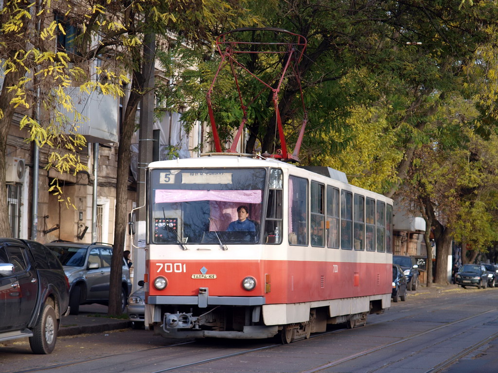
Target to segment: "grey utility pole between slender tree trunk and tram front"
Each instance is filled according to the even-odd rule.
[[[138,143],[138,180],[136,183],[137,206],[145,204],[145,170],[152,162],[153,123],[154,123],[154,72],[155,72],[155,33],[148,33],[143,43],[143,76],[146,92],[140,105],[140,134]],[[137,210],[135,237],[145,242],[145,208]],[[136,245],[136,244],[135,244]],[[140,246],[140,245],[136,245]],[[133,248],[133,288],[137,287],[138,280],[143,279],[145,273],[145,250],[142,247]]]

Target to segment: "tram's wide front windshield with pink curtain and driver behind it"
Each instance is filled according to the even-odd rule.
[[[265,169],[152,170],[151,241],[258,243],[265,180]]]

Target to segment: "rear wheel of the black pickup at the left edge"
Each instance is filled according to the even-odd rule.
[[[45,303],[40,320],[32,330],[33,336],[29,337],[29,346],[33,353],[50,354],[54,351],[58,329],[54,307]]]

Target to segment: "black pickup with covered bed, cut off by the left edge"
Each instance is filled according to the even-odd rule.
[[[0,238],[0,342],[29,337],[35,354],[50,354],[69,305],[69,282],[47,247]]]

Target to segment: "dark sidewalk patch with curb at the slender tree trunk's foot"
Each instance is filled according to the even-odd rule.
[[[78,315],[62,317],[59,337],[101,333],[108,330],[126,329],[128,319],[113,319],[107,316],[107,306],[101,304],[85,304],[80,306]]]

